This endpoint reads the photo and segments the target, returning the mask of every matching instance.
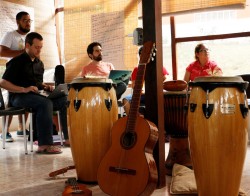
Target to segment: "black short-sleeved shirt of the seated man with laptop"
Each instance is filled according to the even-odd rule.
[[[6,64],[3,79],[22,87],[37,86],[42,88],[44,64],[38,58],[31,61],[29,55],[23,54],[14,57]]]

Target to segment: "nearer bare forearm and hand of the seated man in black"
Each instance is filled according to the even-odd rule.
[[[27,88],[22,86],[17,86],[8,80],[2,79],[0,81],[0,87],[6,89],[7,91],[13,93],[28,93],[28,92],[38,92],[38,88],[36,86],[29,86]]]

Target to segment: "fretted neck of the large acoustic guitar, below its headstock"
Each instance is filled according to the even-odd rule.
[[[144,82],[144,75],[146,70],[146,63],[140,63],[138,65],[138,71],[136,74],[135,85],[133,89],[132,100],[130,104],[130,110],[128,114],[127,121],[127,129],[126,130],[134,130],[136,124],[136,117],[139,112],[140,100],[141,100],[141,92]]]

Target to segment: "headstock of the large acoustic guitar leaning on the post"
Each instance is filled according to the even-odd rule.
[[[151,41],[147,41],[143,44],[142,52],[140,55],[140,64],[149,63],[152,56],[154,56],[156,51],[155,43]]]

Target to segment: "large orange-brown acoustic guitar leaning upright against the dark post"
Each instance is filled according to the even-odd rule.
[[[158,129],[138,115],[146,64],[153,50],[153,42],[144,44],[129,114],[114,123],[111,147],[98,168],[98,184],[112,196],[150,195],[156,188],[158,173],[153,148]]]

